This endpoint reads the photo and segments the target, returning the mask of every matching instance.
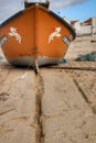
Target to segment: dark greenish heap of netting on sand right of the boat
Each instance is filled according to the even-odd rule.
[[[96,62],[96,52],[87,53],[87,54],[79,54],[75,61],[81,62]]]

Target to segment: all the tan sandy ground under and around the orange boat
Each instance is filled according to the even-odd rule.
[[[0,61],[0,143],[96,143],[96,62],[73,61],[96,51],[90,40],[77,37],[66,64],[39,75]]]

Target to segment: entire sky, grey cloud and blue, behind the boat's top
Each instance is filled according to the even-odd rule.
[[[50,9],[60,14],[60,16],[66,16],[68,20],[79,20],[83,22],[88,18],[96,16],[96,0],[50,1]],[[0,0],[0,23],[23,8],[23,0]]]

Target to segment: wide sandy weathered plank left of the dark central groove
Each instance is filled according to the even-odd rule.
[[[0,70],[0,143],[35,143],[33,70]]]

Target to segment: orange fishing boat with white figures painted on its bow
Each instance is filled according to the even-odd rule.
[[[75,32],[49,4],[24,0],[24,10],[0,24],[0,46],[10,64],[38,68],[64,58]]]

